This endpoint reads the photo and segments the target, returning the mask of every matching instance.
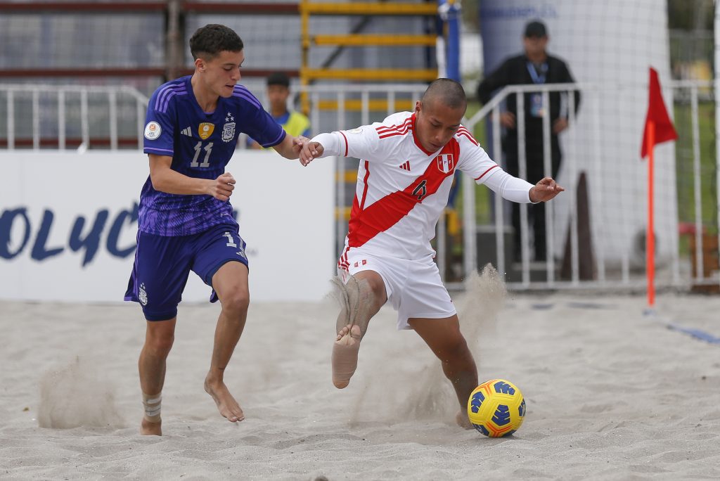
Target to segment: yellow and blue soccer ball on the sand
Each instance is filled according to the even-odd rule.
[[[505,379],[485,381],[467,400],[467,417],[485,436],[500,438],[512,434],[525,419],[523,393]]]

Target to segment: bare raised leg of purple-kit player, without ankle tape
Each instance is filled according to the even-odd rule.
[[[248,316],[248,268],[235,261],[224,264],[212,277],[212,287],[220,299],[222,310],[217,318],[210,371],[205,377],[205,391],[215,400],[220,414],[235,423],[243,421],[245,415],[225,385],[224,376],[225,367],[233,356]]]

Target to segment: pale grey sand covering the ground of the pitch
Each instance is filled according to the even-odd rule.
[[[583,480],[720,477],[720,297],[510,293],[487,278],[455,295],[480,379],[510,379],[526,421],[489,439],[454,424],[439,363],[383,307],[345,390],[330,382],[338,308],[254,302],[226,382],[246,420],[202,383],[217,305],[181,305],[162,437],[139,436],[132,303],[0,302],[0,478]]]

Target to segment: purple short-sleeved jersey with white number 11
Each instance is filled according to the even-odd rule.
[[[171,168],[199,179],[217,179],[225,172],[245,132],[263,147],[282,142],[285,131],[242,85],[217,100],[215,112],[202,112],[192,91],[192,76],[163,84],[150,97],[145,122],[145,153],[173,158]],[[220,223],[235,223],[230,202],[210,195],[166,194],[145,181],[140,192],[138,229],[177,236],[192,235]]]

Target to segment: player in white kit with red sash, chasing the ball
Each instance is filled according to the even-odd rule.
[[[414,329],[440,359],[460,403],[456,421],[472,428],[466,406],[477,387],[477,367],[430,245],[454,172],[463,171],[513,202],[546,202],[564,189],[549,177],[532,185],[503,171],[461,125],[466,108],[462,86],[438,78],[415,112],[316,135],[303,147],[300,161],[361,159],[338,261],[346,308],[333,344],[333,384],[338,389],[348,385],[369,320],[390,301],[398,313],[397,328]]]

